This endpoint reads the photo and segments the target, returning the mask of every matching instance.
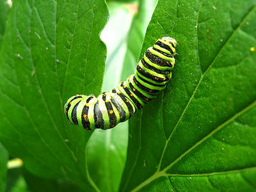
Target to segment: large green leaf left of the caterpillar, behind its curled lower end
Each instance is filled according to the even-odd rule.
[[[100,93],[107,18],[103,0],[13,1],[0,53],[0,140],[30,172],[86,191],[98,190],[86,168],[92,131],[69,125],[63,105]]]

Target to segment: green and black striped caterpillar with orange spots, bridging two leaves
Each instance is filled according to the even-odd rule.
[[[110,129],[125,122],[147,102],[155,99],[172,77],[177,42],[168,36],[149,47],[134,74],[117,88],[94,95],[74,95],[64,106],[70,124],[84,129]]]

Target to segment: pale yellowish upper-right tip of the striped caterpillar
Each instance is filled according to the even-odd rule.
[[[169,36],[164,36],[162,38],[159,38],[153,47],[174,56],[176,51],[175,49],[176,45],[177,45],[177,41],[174,38]]]

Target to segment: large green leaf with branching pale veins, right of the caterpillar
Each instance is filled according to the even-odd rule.
[[[132,117],[120,191],[255,191],[256,1],[161,1],[141,53],[179,43],[166,90]]]

